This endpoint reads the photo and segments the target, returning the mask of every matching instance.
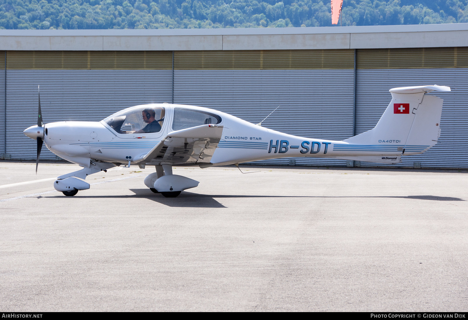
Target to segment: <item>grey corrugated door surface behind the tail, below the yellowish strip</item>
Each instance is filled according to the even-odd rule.
[[[393,87],[438,84],[453,88],[433,93],[444,99],[439,143],[422,155],[403,157],[399,167],[468,167],[468,69],[373,69],[358,70],[356,133],[372,129],[391,100]],[[363,167],[385,166],[361,163]]]

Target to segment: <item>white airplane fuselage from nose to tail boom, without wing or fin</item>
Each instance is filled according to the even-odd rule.
[[[160,131],[137,131],[138,122],[142,123],[139,119],[141,118],[141,109],[145,107],[162,110],[159,115],[163,117],[163,120],[160,121]],[[142,158],[161,139],[170,132],[179,130],[181,125],[190,125],[191,120],[183,118],[183,116],[181,118],[180,114],[188,110],[187,114],[190,115],[190,110],[192,110],[211,114],[212,119],[217,119],[215,119],[218,121],[217,125],[223,127],[222,137],[211,159],[211,163],[218,166],[285,157],[338,159],[343,156],[358,155],[394,157],[401,154],[403,146],[399,140],[392,140],[391,137],[388,137],[387,140],[382,137],[370,145],[353,145],[343,141],[303,138],[267,129],[224,112],[202,107],[165,103],[132,108],[136,108],[134,114],[128,111],[126,114],[124,113],[126,117],[119,116],[123,110],[100,122],[63,121],[45,124],[45,145],[52,153],[82,167],[89,167],[90,160],[116,164],[128,163],[129,161],[131,164],[144,163],[141,162]],[[122,117],[125,120],[115,125]],[[184,121],[189,122],[189,124]],[[140,126],[142,125],[144,124],[142,123]],[[419,147],[407,150],[405,155],[421,153],[424,149]],[[164,162],[155,163],[152,161],[148,164],[162,165]],[[197,165],[197,163],[187,163],[186,165]]]

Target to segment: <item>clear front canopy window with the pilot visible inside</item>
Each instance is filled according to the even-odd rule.
[[[105,118],[117,133],[150,133],[161,131],[165,109],[162,107],[136,106],[127,108]]]

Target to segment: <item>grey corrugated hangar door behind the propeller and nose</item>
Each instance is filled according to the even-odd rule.
[[[172,67],[172,53],[170,58]],[[172,70],[14,69],[17,60],[12,60],[11,69],[7,62],[7,153],[12,159],[36,158],[36,143],[22,131],[37,122],[37,85],[44,123],[100,121],[127,107],[172,99]],[[51,65],[48,57],[36,66],[44,65]],[[55,155],[44,147],[41,159]]]

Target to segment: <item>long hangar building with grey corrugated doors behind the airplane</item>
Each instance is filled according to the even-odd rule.
[[[370,130],[388,89],[446,85],[439,144],[393,167],[468,168],[468,23],[366,27],[0,30],[0,155],[36,158],[37,122],[174,102],[324,139]],[[385,138],[385,137],[382,137]],[[43,148],[41,159],[55,155]],[[297,158],[260,164],[385,167]]]

